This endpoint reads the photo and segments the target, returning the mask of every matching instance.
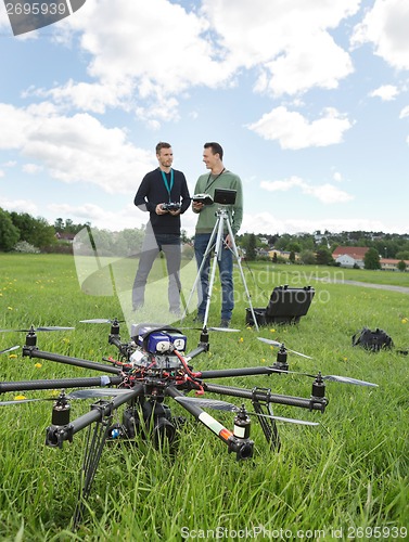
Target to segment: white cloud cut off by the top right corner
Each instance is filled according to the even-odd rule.
[[[362,23],[355,27],[353,46],[373,43],[375,54],[398,69],[409,68],[409,2],[375,0]]]

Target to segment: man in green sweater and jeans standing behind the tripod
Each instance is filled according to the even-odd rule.
[[[194,194],[215,195],[215,189],[230,189],[237,192],[234,205],[227,206],[229,222],[233,235],[241,227],[243,219],[243,190],[239,176],[225,168],[222,163],[223,150],[219,143],[205,143],[203,151],[203,162],[209,173],[202,175],[194,188]],[[206,248],[209,243],[212,232],[217,221],[217,204],[204,205],[201,202],[192,203],[193,212],[199,215],[195,236],[194,254],[197,268],[201,268]],[[228,231],[223,232],[223,249],[219,258],[218,267],[221,282],[221,319],[220,326],[229,327],[231,314],[234,308],[233,291],[233,254],[231,250],[231,238]],[[201,295],[197,307],[196,320],[203,322],[206,312],[206,301],[208,297],[208,274],[210,268],[210,255],[206,255],[206,261],[201,272]]]

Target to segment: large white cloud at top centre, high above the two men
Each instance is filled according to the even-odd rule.
[[[222,86],[232,75],[206,36],[208,22],[167,0],[150,0],[143,9],[129,0],[88,0],[81,16],[63,25],[65,41],[68,29],[80,33],[94,82],[69,81],[47,95],[86,111],[133,107],[144,119],[162,120],[164,108],[169,115],[169,96],[194,86]]]

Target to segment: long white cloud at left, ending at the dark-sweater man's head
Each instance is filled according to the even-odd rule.
[[[68,117],[48,104],[25,109],[0,104],[0,149],[18,150],[60,181],[127,193],[156,165],[152,152],[133,146],[125,130],[105,128],[89,114]]]

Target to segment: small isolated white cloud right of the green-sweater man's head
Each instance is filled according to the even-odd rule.
[[[311,122],[301,113],[279,106],[248,126],[266,140],[278,141],[282,149],[307,149],[341,143],[343,134],[353,126],[345,115],[327,108],[322,117]]]

